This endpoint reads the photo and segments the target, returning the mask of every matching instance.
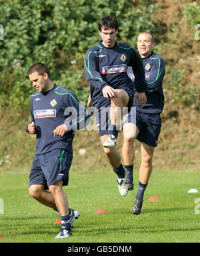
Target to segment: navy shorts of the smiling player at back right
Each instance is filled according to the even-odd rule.
[[[145,142],[149,146],[156,147],[161,132],[160,114],[146,114],[136,111],[135,118],[130,118],[130,114],[131,112],[129,112],[129,115],[123,124],[129,122],[134,123],[139,129],[137,140]]]

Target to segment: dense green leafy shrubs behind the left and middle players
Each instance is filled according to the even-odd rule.
[[[86,100],[83,59],[85,51],[100,40],[97,23],[106,15],[120,24],[118,40],[133,44],[139,31],[154,31],[151,15],[153,1],[4,1],[0,23],[5,40],[1,41],[1,108],[9,101],[29,104],[32,88],[27,70],[37,62],[47,63],[51,77]],[[15,91],[15,93],[13,93]]]

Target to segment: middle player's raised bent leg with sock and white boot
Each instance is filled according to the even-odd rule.
[[[123,107],[129,104],[129,95],[125,90],[116,89],[115,96],[111,97],[109,135],[103,144],[105,148],[114,148],[117,143],[117,136],[121,126]]]

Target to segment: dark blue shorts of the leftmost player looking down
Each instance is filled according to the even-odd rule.
[[[35,154],[29,176],[29,186],[45,184],[45,189],[48,189],[58,180],[63,180],[63,186],[67,186],[72,158],[73,154],[62,149],[54,149],[45,154]]]

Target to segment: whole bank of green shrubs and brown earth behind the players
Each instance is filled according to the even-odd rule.
[[[97,23],[106,15],[119,21],[117,40],[133,47],[139,32],[153,33],[154,51],[165,59],[165,109],[155,167],[199,166],[199,5],[199,0],[0,0],[0,170],[20,166],[33,156],[35,140],[24,134],[34,92],[28,68],[37,61],[46,63],[55,83],[86,102],[84,56],[100,40]],[[87,148],[88,140],[96,152],[100,149],[96,132],[77,132],[75,150]],[[102,157],[88,154],[79,161],[102,164]]]

